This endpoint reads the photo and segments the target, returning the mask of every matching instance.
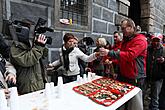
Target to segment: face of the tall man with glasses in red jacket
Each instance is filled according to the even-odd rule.
[[[134,33],[134,28],[127,25],[127,21],[123,21],[121,24],[121,30],[123,32],[123,37],[131,36]]]

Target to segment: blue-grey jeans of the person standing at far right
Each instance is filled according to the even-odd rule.
[[[159,94],[161,91],[163,80],[151,82],[151,102],[149,105],[150,110],[159,110]]]

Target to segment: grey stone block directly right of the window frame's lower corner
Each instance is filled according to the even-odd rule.
[[[107,33],[107,24],[105,22],[94,20],[93,32],[96,33]]]

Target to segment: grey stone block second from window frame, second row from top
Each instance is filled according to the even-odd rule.
[[[103,9],[103,20],[113,22],[113,12]]]

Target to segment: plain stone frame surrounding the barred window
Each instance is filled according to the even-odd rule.
[[[60,6],[61,0],[56,0],[54,5],[54,28],[57,30],[65,30],[65,31],[78,31],[78,32],[91,32],[92,27],[92,0],[88,0],[88,25],[66,25],[60,23]]]

